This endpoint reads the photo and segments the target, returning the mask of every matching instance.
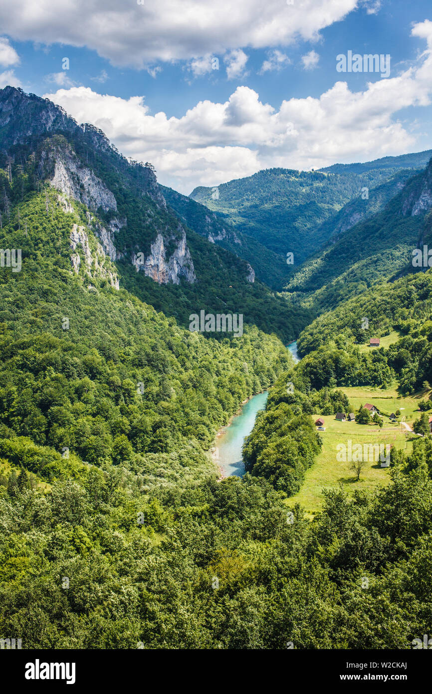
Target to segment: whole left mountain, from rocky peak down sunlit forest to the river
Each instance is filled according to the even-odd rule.
[[[216,430],[274,382],[288,351],[254,325],[235,339],[191,332],[128,291],[126,267],[186,303],[182,285],[198,285],[214,246],[192,232],[190,253],[153,171],[121,160],[103,135],[17,90],[0,99],[0,475],[21,466],[44,489],[86,480],[89,466],[121,465],[141,489],[214,475]],[[35,133],[19,129],[11,103],[28,103]],[[63,134],[40,132],[38,109]],[[230,256],[222,272],[244,263],[218,254]]]

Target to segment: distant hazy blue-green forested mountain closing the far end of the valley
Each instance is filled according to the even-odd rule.
[[[293,253],[293,271],[329,239],[331,219],[343,205],[362,201],[364,189],[377,188],[401,169],[422,169],[430,157],[424,152],[318,171],[266,169],[217,187],[197,187],[191,198],[284,259]]]

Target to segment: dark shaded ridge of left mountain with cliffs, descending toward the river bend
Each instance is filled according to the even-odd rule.
[[[101,130],[78,125],[47,99],[6,87],[0,90],[0,143],[8,183],[22,177],[21,201],[49,183],[65,212],[71,201],[79,203],[70,244],[87,256],[83,262],[76,258],[75,271],[81,266],[92,274],[92,232],[101,246],[98,264],[105,263],[103,256],[114,264],[112,285],[182,325],[200,310],[234,312],[291,341],[309,322],[309,310],[299,312],[254,281],[253,266],[211,243],[207,228],[200,234],[191,230],[167,205],[151,164],[128,162]],[[3,214],[10,214],[12,204],[17,214],[21,201],[4,192]]]

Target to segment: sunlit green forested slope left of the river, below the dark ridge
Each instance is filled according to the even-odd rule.
[[[142,484],[209,473],[216,429],[288,362],[279,340],[254,327],[205,338],[117,289],[87,211],[55,189],[9,211],[0,246],[21,266],[12,252],[0,269],[0,458],[48,481],[83,462]]]

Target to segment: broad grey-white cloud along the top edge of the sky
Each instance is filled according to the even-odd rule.
[[[363,0],[2,0],[0,26],[17,40],[87,46],[114,65],[148,67],[239,48],[287,46],[343,19]]]

